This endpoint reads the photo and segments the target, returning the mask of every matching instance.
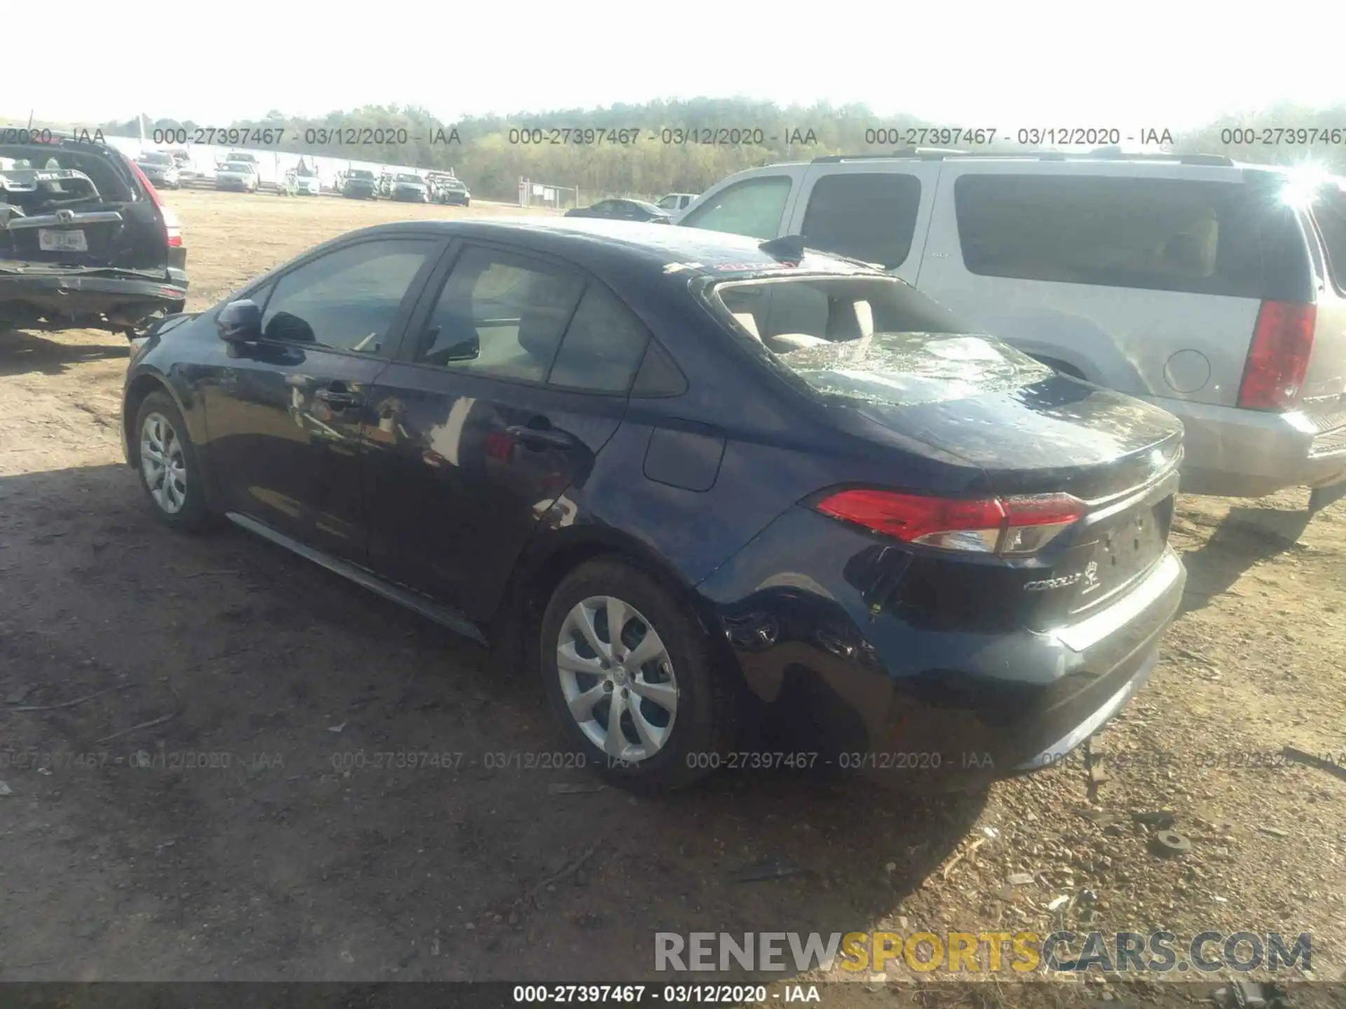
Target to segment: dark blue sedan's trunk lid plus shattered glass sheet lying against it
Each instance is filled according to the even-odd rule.
[[[1030,627],[1116,599],[1163,557],[1182,459],[1176,417],[988,338],[884,334],[857,344],[782,357],[865,421],[979,467],[991,494],[1088,503],[1042,566],[1004,589],[1023,600],[1011,609]]]

